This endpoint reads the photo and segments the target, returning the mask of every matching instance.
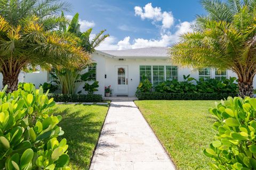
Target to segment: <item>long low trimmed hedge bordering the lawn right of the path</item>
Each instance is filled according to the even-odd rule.
[[[221,100],[229,96],[236,97],[238,94],[138,92],[136,96],[139,100]]]

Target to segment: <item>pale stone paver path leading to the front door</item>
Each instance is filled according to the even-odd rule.
[[[175,169],[133,101],[110,104],[90,167],[104,169]]]

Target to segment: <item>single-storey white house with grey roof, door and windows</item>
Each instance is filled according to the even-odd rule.
[[[220,73],[214,69],[195,70],[173,65],[167,56],[167,47],[97,50],[92,54],[92,60],[96,65],[88,69],[96,70],[93,78],[99,81],[99,91],[95,92],[95,94],[101,94],[102,96],[105,95],[105,86],[111,86],[113,96],[134,96],[140,79],[144,74],[154,85],[172,79],[183,81],[183,75],[188,74],[196,79],[236,77],[236,74],[232,71]],[[84,72],[86,71],[87,69],[84,70]],[[31,82],[36,87],[39,87],[39,84],[50,82],[51,77],[46,71],[20,73],[19,81]],[[83,86],[84,84],[81,84],[78,91],[82,90],[84,92]]]

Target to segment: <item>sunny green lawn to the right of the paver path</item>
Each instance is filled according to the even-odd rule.
[[[135,101],[177,169],[210,169],[204,156],[214,139],[214,118],[208,113],[214,101]]]

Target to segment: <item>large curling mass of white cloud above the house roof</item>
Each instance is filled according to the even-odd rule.
[[[193,22],[179,21],[178,24],[174,24],[172,12],[162,11],[160,7],[153,7],[151,3],[146,4],[144,7],[135,6],[134,12],[135,16],[140,16],[142,20],[152,20],[152,24],[156,25],[157,28],[159,28],[157,23],[161,22],[161,29],[159,29],[160,36],[156,39],[135,38],[133,40],[131,40],[130,36],[126,36],[123,40],[119,41],[116,37],[110,36],[97,49],[121,50],[143,47],[168,47],[173,43],[178,43],[179,36],[182,33],[192,31],[190,24]],[[118,29],[131,31],[131,27],[127,25],[121,25]]]

